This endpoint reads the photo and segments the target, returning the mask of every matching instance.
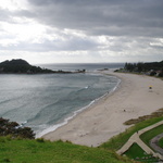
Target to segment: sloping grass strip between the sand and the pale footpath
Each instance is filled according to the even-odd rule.
[[[140,130],[142,128],[146,128],[150,125],[153,125],[162,120],[163,120],[163,116],[154,117],[154,118],[150,118],[150,120],[140,122],[140,123],[134,125],[133,127],[126,129],[126,131],[111,138],[108,142],[104,142],[100,147],[104,148],[104,149],[110,149],[110,150],[116,151],[116,150],[121,149],[127,142],[127,140],[134,133],[136,133],[137,130]]]

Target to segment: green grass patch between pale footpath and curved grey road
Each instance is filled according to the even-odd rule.
[[[150,140],[162,133],[163,133],[163,125],[160,125],[160,126],[140,135],[140,138],[147,146],[150,147]]]

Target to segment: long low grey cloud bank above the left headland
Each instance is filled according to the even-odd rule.
[[[83,51],[83,50],[95,50],[100,43],[82,38],[71,38],[66,40],[48,40],[45,39],[41,43],[20,41],[16,45],[8,45],[5,47],[0,46],[1,50],[12,49],[15,51],[34,51],[34,52],[47,52],[47,51]]]

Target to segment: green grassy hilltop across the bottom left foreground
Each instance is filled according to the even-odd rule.
[[[1,163],[123,163],[124,160],[114,152],[43,139],[25,140],[0,137]]]

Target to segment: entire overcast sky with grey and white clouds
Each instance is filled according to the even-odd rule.
[[[163,0],[1,0],[0,62],[163,60]]]

